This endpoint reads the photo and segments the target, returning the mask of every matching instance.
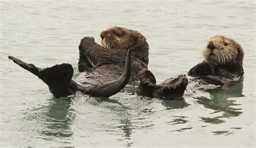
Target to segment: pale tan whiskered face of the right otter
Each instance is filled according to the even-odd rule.
[[[207,41],[203,50],[203,57],[208,62],[215,64],[229,64],[243,58],[241,46],[234,40],[223,37],[214,36]],[[239,54],[241,58],[239,58]]]

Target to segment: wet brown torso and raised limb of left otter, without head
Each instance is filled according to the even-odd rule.
[[[132,49],[133,51],[134,49]],[[79,76],[75,79],[82,86],[116,80],[124,71],[126,49],[107,49],[85,37],[79,45]],[[138,72],[147,68],[139,58],[131,55],[131,81],[137,81]]]

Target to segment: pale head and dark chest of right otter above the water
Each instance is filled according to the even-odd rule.
[[[214,45],[210,50],[208,46]],[[204,61],[194,66],[188,75],[217,75],[230,77],[231,75],[242,76],[244,68],[242,60],[244,51],[242,47],[231,38],[214,36],[207,41],[203,49]]]

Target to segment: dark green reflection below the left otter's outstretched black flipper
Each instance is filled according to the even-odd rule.
[[[58,99],[52,100],[48,106],[48,111],[44,112],[46,128],[42,131],[43,135],[49,138],[71,137],[73,131],[70,128],[76,115],[71,108],[71,100]]]

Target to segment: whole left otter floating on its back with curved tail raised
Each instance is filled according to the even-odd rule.
[[[12,56],[9,59],[42,79],[57,98],[77,90],[91,96],[109,97],[125,86],[130,75],[136,79],[137,73],[147,68],[149,45],[138,31],[123,27],[106,29],[100,37],[103,46],[95,43],[93,37],[84,37],[80,41],[78,69],[82,73],[73,80],[70,64],[38,68]]]

